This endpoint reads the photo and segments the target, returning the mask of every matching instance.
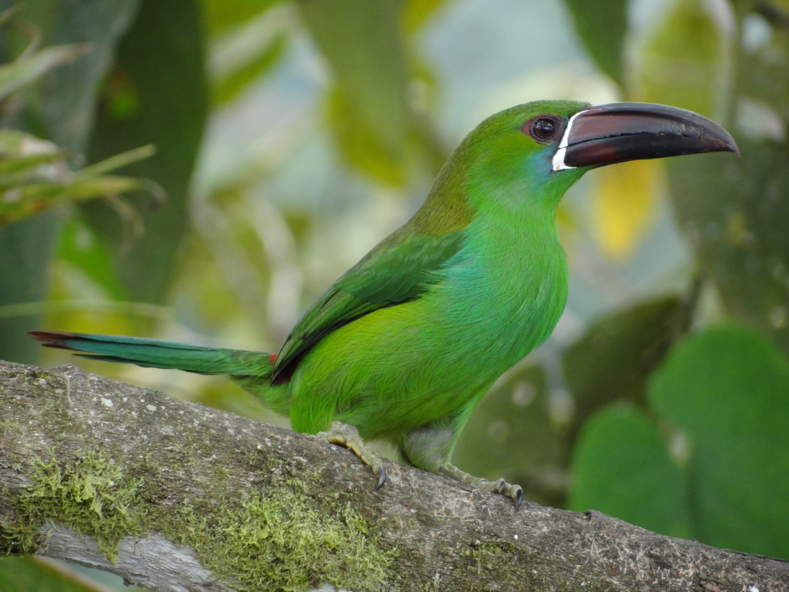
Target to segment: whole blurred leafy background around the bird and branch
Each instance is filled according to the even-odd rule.
[[[567,310],[454,463],[540,504],[789,559],[789,0],[0,9],[0,358],[278,425],[222,377],[24,332],[276,351],[495,111],[635,100],[722,123],[742,158],[624,163],[570,190]],[[0,560],[0,589],[122,588],[68,569]]]

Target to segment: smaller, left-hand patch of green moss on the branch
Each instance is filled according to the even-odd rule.
[[[118,541],[148,530],[148,514],[140,502],[141,480],[124,478],[101,452],[88,452],[60,466],[36,459],[32,484],[17,497],[13,523],[0,525],[0,551],[33,553],[45,524],[68,526],[95,538],[110,560],[118,556]]]

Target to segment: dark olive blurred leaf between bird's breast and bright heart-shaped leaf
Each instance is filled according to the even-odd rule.
[[[642,404],[647,377],[681,335],[685,317],[674,295],[639,302],[597,320],[568,347],[562,365],[576,424],[616,400]]]

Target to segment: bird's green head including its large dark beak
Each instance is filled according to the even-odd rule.
[[[505,193],[517,200],[519,192],[551,209],[593,167],[718,151],[737,152],[731,136],[676,107],[533,101],[481,122],[454,152],[434,190],[445,197],[447,189],[463,193],[474,209]]]

